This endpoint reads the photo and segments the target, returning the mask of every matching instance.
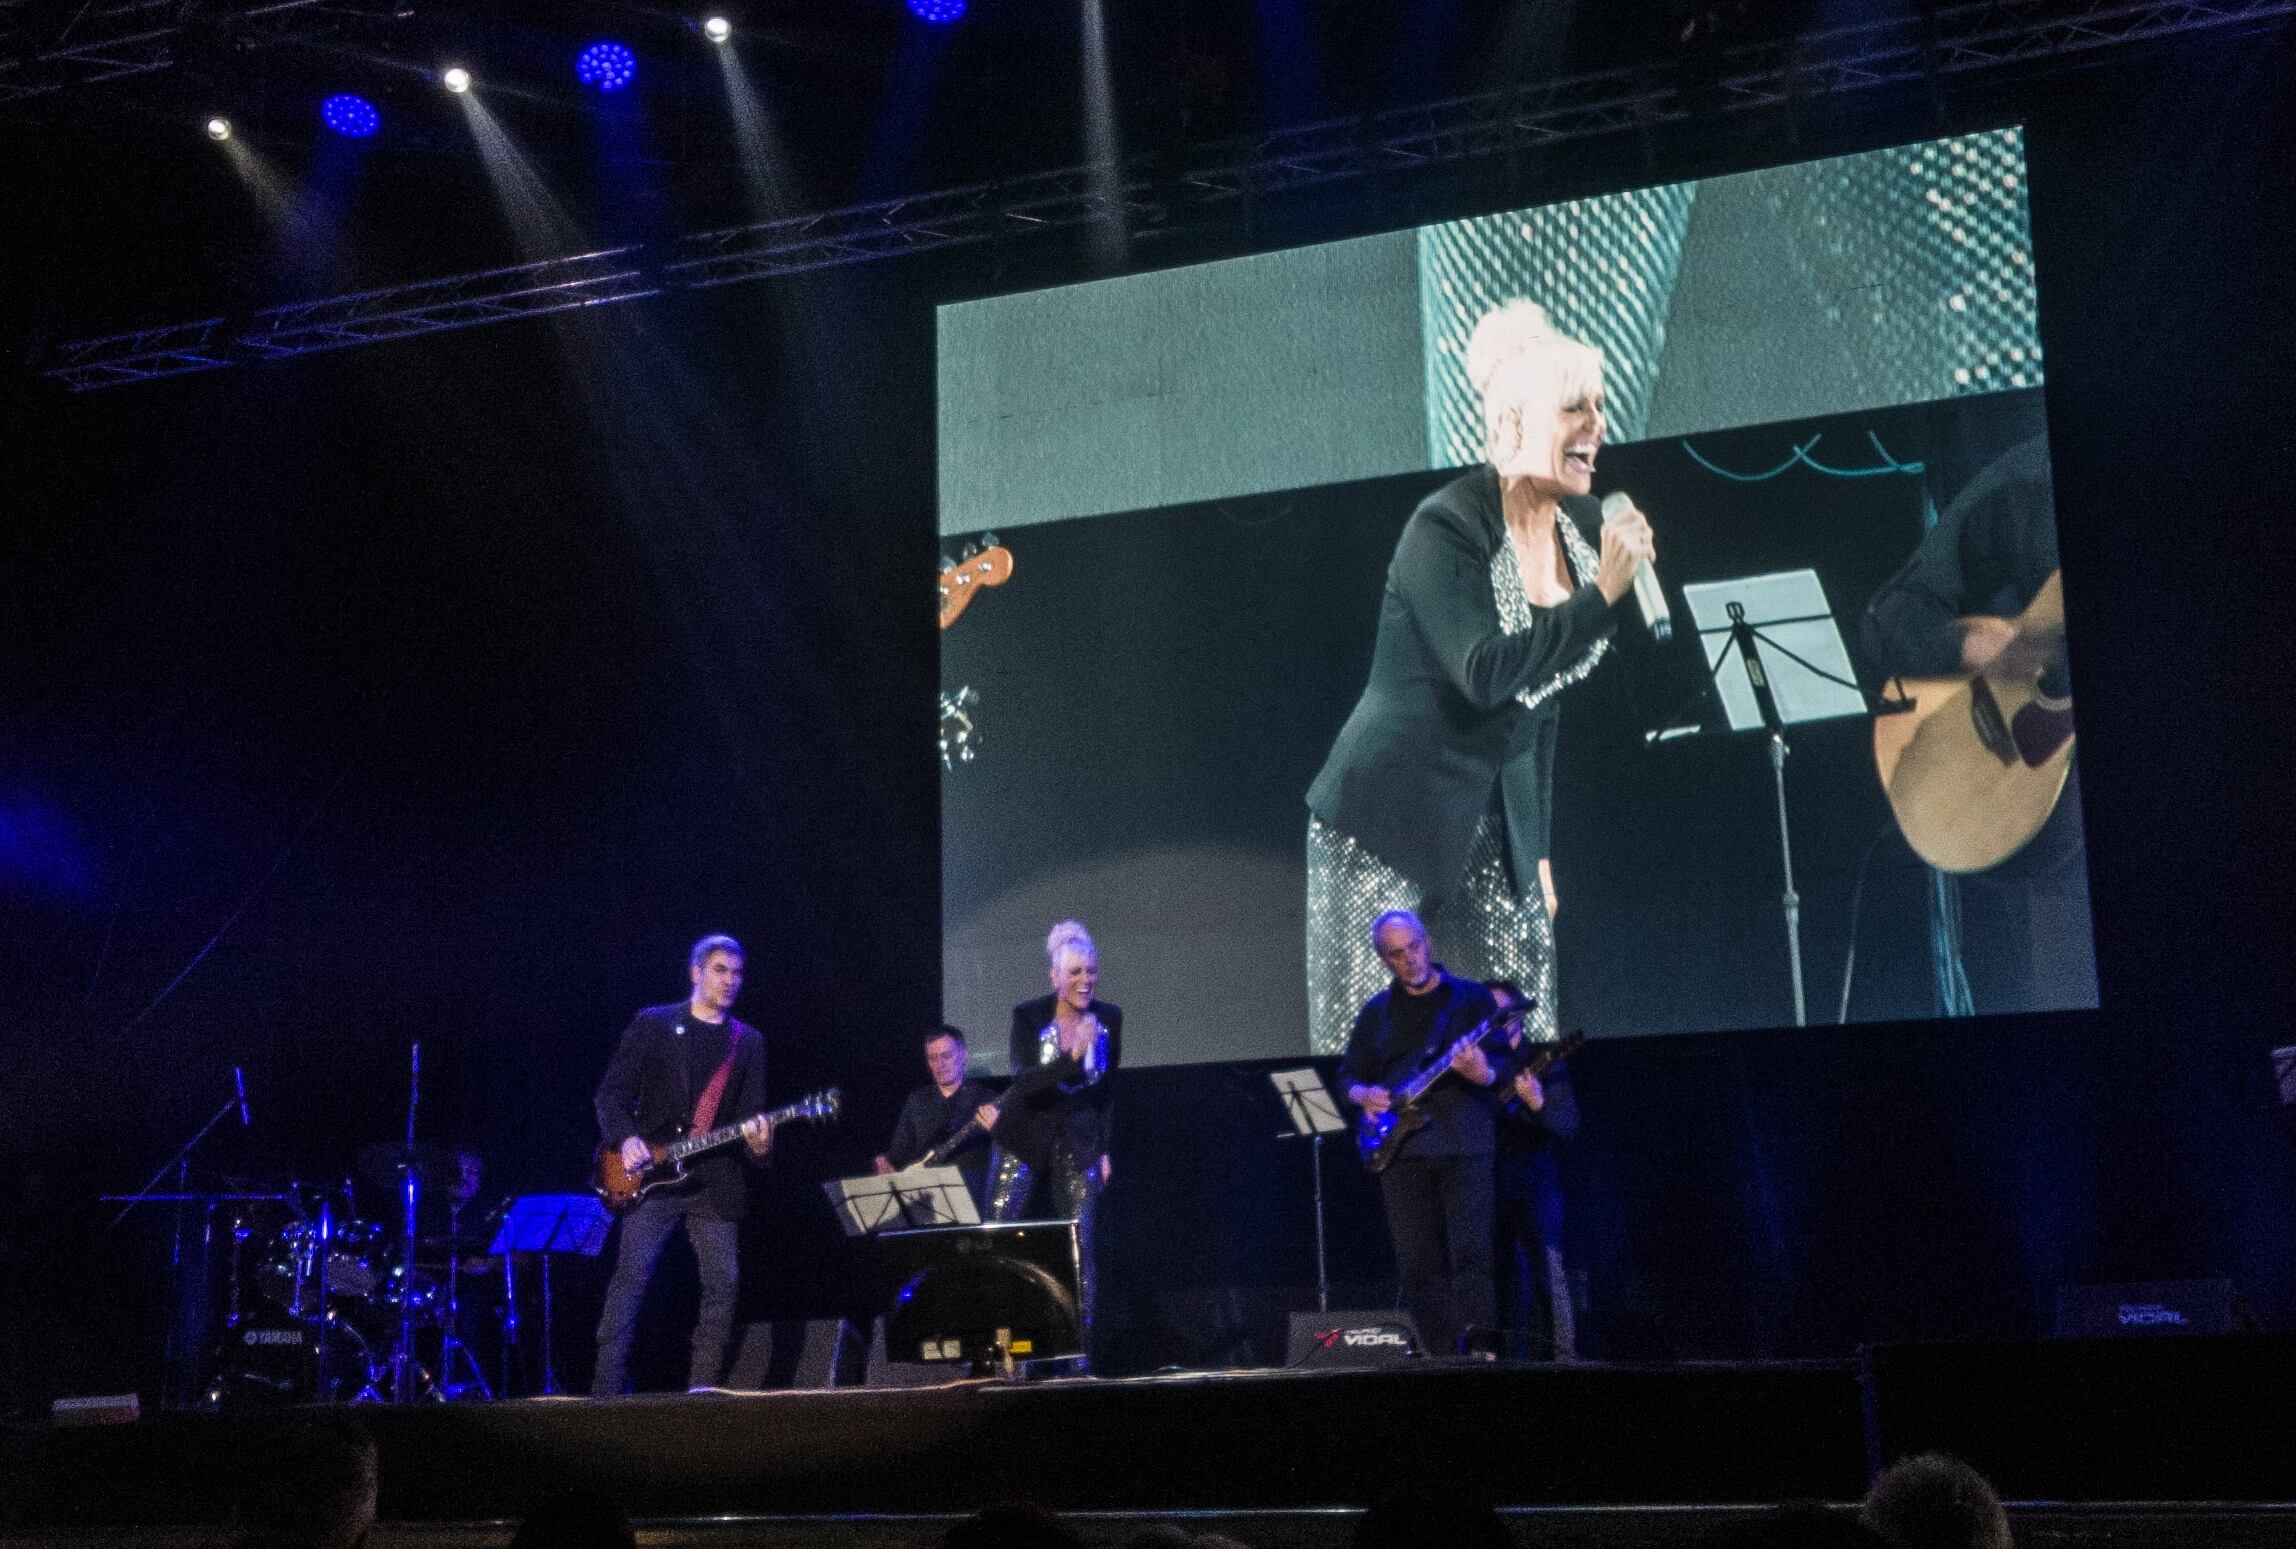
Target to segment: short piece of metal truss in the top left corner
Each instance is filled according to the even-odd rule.
[[[255,0],[200,5],[197,0],[80,0],[64,7],[11,0],[0,7],[0,106],[69,87],[149,76],[172,69],[193,28],[278,28],[285,18],[324,9],[324,0]],[[48,23],[48,25],[44,25]],[[280,41],[280,39],[269,39]]]

